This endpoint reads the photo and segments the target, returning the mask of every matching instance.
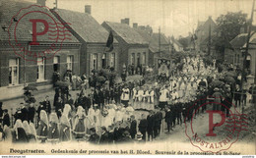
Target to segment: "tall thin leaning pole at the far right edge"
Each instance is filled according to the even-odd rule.
[[[252,27],[252,21],[253,21],[253,14],[255,12],[254,11],[254,6],[255,6],[255,0],[253,0],[253,2],[252,2],[251,19],[249,21],[248,34],[247,34],[247,39],[246,39],[246,47],[245,47],[244,58],[243,58],[242,79],[241,79],[241,84],[240,84],[240,89],[242,90],[242,101],[243,101],[243,93],[244,93],[244,91],[243,91],[243,80],[246,78],[245,73],[244,73],[245,72],[245,66],[246,66],[246,58],[247,58],[247,55],[248,55],[249,42],[250,42],[250,37],[251,37],[251,27]],[[254,82],[256,82],[255,77],[254,77]],[[243,111],[244,111],[244,105],[242,104],[242,113],[243,113]]]

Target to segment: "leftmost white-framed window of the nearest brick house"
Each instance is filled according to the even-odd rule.
[[[9,60],[9,84],[19,83],[19,58]]]

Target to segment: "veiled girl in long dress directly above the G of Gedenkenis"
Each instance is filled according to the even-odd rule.
[[[59,119],[56,113],[50,114],[49,119],[49,132],[47,135],[47,140],[51,143],[56,143],[59,141]]]

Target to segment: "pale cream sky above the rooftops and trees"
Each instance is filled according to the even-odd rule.
[[[46,0],[46,6],[53,8],[54,2]],[[85,5],[92,6],[92,16],[99,24],[120,23],[121,19],[129,18],[130,26],[133,23],[149,25],[154,32],[160,27],[165,35],[178,37],[193,32],[198,21],[206,21],[209,16],[215,21],[227,12],[242,11],[249,18],[252,0],[58,0],[60,9],[85,12]]]

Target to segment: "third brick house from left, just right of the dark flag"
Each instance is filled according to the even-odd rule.
[[[108,31],[112,30],[114,38],[119,43],[119,72],[127,66],[149,66],[149,42],[129,26],[129,19],[121,22],[103,22],[101,25]]]

